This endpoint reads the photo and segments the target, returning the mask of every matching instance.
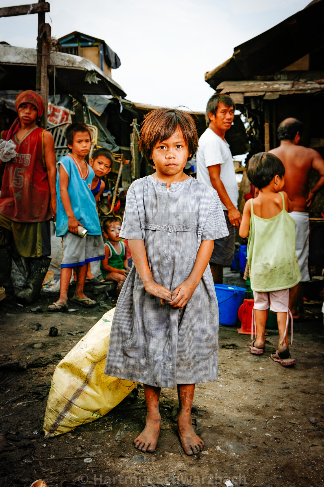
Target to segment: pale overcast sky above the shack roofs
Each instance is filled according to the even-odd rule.
[[[36,1],[36,0],[34,0]],[[51,0],[54,37],[99,37],[118,54],[112,77],[139,103],[205,111],[205,82],[233,48],[281,22],[310,0]],[[0,0],[1,6],[25,3]],[[51,17],[51,19],[50,19]],[[0,19],[0,40],[35,47],[37,15]]]

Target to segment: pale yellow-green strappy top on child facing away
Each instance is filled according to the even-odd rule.
[[[247,258],[251,288],[257,292],[279,291],[295,286],[302,278],[295,252],[295,222],[285,209],[273,218],[254,214],[251,219]]]

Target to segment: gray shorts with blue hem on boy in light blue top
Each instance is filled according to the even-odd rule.
[[[102,261],[104,259],[104,245],[102,235],[85,235],[82,239],[71,232],[62,237],[63,259],[62,267],[75,267],[87,262]]]

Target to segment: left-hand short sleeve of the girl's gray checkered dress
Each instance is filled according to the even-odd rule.
[[[133,183],[127,191],[125,212],[119,237],[128,240],[143,240],[144,242],[145,230],[143,215],[145,212],[143,191],[140,191],[140,187],[137,186]]]

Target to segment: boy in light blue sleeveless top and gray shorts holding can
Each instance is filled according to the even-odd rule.
[[[91,134],[83,123],[73,123],[66,131],[71,150],[57,163],[56,235],[62,237],[60,297],[49,306],[49,311],[67,311],[68,285],[72,268],[77,267],[77,280],[72,301],[85,307],[96,301],[85,296],[83,289],[88,263],[104,259],[104,246],[95,199],[91,193],[93,169],[85,162],[91,147]],[[84,238],[78,236],[78,226],[87,230]]]

